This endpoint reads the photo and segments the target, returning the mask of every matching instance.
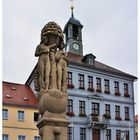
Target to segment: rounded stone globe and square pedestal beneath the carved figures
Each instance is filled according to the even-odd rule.
[[[65,110],[68,95],[59,90],[41,91],[38,95],[38,108],[41,114],[37,127],[41,140],[67,140]]]

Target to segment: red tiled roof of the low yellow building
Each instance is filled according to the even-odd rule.
[[[3,82],[3,104],[37,108],[37,98],[30,87]]]

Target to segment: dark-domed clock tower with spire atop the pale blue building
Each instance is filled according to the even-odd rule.
[[[71,17],[64,28],[67,52],[83,55],[82,28],[80,21],[74,18],[73,6],[71,6]]]

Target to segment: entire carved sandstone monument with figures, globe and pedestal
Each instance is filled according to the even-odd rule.
[[[35,56],[38,58],[35,74],[35,89],[38,91],[38,109],[41,114],[37,127],[41,140],[66,140],[67,126],[65,111],[67,56],[63,51],[63,32],[55,22],[49,22],[41,31],[41,42]]]

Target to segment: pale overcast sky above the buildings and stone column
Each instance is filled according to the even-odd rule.
[[[3,0],[2,8],[2,80],[24,84],[37,63],[41,29],[49,21],[63,29],[70,0]],[[84,25],[84,54],[138,76],[137,0],[74,0],[74,17]]]

